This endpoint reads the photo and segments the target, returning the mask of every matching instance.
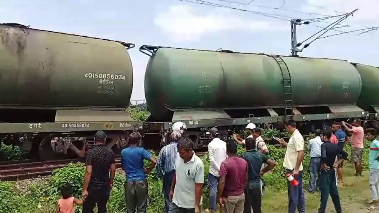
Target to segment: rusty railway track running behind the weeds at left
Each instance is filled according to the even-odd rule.
[[[205,155],[207,152],[197,152],[198,156]],[[119,157],[119,156],[117,156]],[[116,168],[121,168],[121,158],[116,158]],[[0,165],[0,181],[24,180],[39,176],[52,174],[54,169],[63,168],[71,162],[81,162],[81,159],[67,159],[55,161],[40,161]]]

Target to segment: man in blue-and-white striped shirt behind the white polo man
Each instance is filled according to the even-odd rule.
[[[170,136],[171,143],[164,146],[158,155],[157,161],[157,174],[159,177],[163,177],[163,194],[164,194],[164,207],[166,213],[168,213],[170,205],[170,187],[172,178],[175,174],[175,160],[177,155],[177,141],[182,138],[182,134],[185,129],[185,124],[182,122],[176,122],[172,125],[172,133]]]

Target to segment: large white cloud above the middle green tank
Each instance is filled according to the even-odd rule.
[[[171,6],[168,11],[158,13],[154,23],[176,42],[200,39],[208,33],[217,33],[222,30],[239,31],[278,31],[288,30],[287,26],[277,25],[261,20],[249,20],[222,13],[220,10],[207,11],[204,14],[196,13],[187,5]],[[275,20],[278,22],[277,20]]]

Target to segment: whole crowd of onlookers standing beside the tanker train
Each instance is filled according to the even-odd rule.
[[[349,138],[344,129],[352,133]],[[233,134],[234,140],[223,141],[219,138],[218,129],[211,128],[208,135],[210,166],[208,186],[210,204],[208,211],[216,210],[217,204],[225,213],[261,213],[262,175],[276,166],[276,162],[268,157],[269,149],[261,137],[261,130],[254,124],[248,124],[251,131],[246,139]],[[296,128],[296,122],[290,120],[285,124],[290,133],[288,143],[279,139],[279,143],[287,147],[283,169],[286,171],[288,188],[288,213],[305,212],[305,195],[302,184],[304,138]],[[126,174],[125,201],[127,213],[145,213],[148,205],[148,183],[146,176],[156,166],[157,174],[163,180],[163,194],[166,213],[200,213],[202,212],[202,187],[204,183],[204,164],[193,151],[194,143],[183,137],[186,125],[175,122],[172,126],[170,143],[164,146],[153,158],[144,148],[139,147],[141,135],[133,132],[129,136],[129,147],[121,152],[122,169]],[[378,205],[379,199],[379,141],[376,130],[365,131],[370,145],[370,190],[371,205]],[[345,122],[335,123],[332,127],[324,127],[316,131],[316,137],[308,144],[310,152],[309,193],[320,191],[321,200],[319,213],[324,213],[329,194],[337,213],[342,211],[337,188],[338,181],[343,182],[343,160],[348,154],[343,147],[348,141],[352,146],[351,157],[355,163],[356,176],[362,177],[363,128],[361,121],[355,119],[353,125]],[[113,186],[116,170],[114,154],[104,146],[106,134],[99,131],[95,135],[96,147],[86,157],[82,199],[72,197],[72,188],[62,188],[62,199],[58,200],[58,213],[71,213],[74,203],[83,205],[83,213],[92,212],[97,204],[99,213],[106,212],[106,203]],[[238,157],[237,144],[245,147],[246,152]],[[150,161],[144,168],[144,160]],[[337,174],[336,174],[337,170]]]

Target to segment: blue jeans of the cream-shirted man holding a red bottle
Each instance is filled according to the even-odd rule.
[[[292,173],[292,170],[287,172]],[[303,171],[299,171],[299,174],[296,177],[296,180],[299,182],[297,186],[291,185],[287,181],[288,188],[288,213],[295,213],[298,209],[299,213],[305,213],[305,195],[303,191]]]

